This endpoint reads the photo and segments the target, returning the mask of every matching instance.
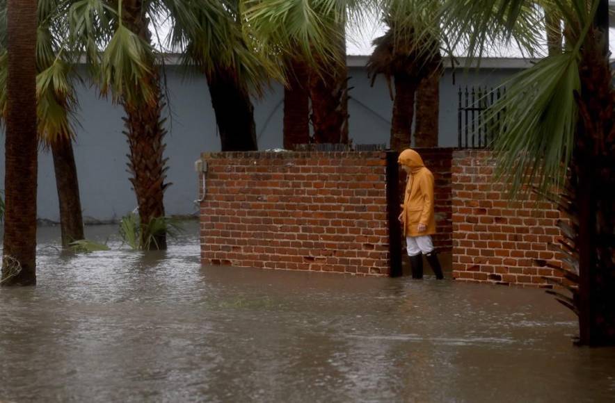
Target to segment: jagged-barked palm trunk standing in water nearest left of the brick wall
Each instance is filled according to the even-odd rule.
[[[149,20],[143,12],[141,0],[125,0],[122,3],[123,19],[131,31],[137,33],[143,40],[151,43]],[[149,228],[152,220],[164,217],[164,191],[168,183],[166,179],[166,159],[163,158],[166,145],[163,142],[166,134],[161,119],[163,104],[160,94],[160,79],[156,73],[157,67],[148,66],[150,76],[141,83],[147,85],[152,92],[152,100],[141,101],[138,104],[123,102],[126,112],[125,134],[130,149],[129,172],[130,179],[136,194],[139,221],[141,225],[141,247],[149,249],[166,249],[166,233],[150,234]],[[154,242],[147,242],[153,236]]]

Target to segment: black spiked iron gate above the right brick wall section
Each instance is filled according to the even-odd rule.
[[[459,87],[457,134],[460,149],[487,148],[500,132],[502,113],[488,116],[486,110],[506,94],[506,88]]]

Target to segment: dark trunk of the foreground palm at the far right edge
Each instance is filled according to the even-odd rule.
[[[594,31],[584,46],[571,165],[580,344],[590,346],[615,345],[615,91],[602,44]]]

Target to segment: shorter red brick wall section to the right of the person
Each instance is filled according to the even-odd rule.
[[[544,261],[560,264],[548,249],[561,236],[559,211],[545,202],[509,201],[493,178],[494,168],[490,151],[453,153],[453,277],[548,286],[543,276],[556,273]]]

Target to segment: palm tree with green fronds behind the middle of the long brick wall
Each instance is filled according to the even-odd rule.
[[[312,101],[314,142],[348,142],[348,90],[345,50],[346,24],[360,25],[375,0],[243,0],[246,26],[264,44],[279,49],[283,60],[309,66],[308,88]],[[301,69],[288,68],[292,74]],[[296,97],[305,110],[305,97]],[[294,104],[286,105],[289,110]],[[304,120],[302,120],[304,121]],[[301,137],[305,136],[302,126]]]

